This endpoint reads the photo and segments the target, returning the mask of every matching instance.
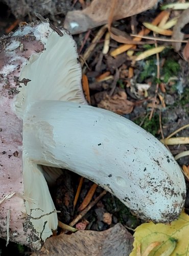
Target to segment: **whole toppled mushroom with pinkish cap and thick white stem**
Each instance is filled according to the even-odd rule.
[[[178,218],[186,194],[180,167],[151,134],[89,106],[72,36],[48,22],[1,40],[0,236],[39,249],[57,228],[41,165],[80,174],[138,217]]]

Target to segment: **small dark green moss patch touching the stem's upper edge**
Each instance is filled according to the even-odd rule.
[[[134,120],[136,124],[140,124],[143,122],[141,127],[143,127],[146,131],[153,134],[154,136],[157,135],[157,132],[159,130],[159,115],[157,113],[154,113],[151,120],[149,120],[149,116],[139,117]]]

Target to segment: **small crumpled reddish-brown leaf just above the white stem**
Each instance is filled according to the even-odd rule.
[[[111,97],[107,93],[99,96],[103,96],[98,103],[99,108],[110,110],[119,115],[129,114],[133,110],[134,103],[127,100],[127,94],[124,90],[119,90]]]

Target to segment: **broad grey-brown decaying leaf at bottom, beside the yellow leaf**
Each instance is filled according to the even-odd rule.
[[[128,256],[133,248],[133,237],[120,223],[105,231],[79,230],[76,233],[47,239],[39,253],[32,256]]]

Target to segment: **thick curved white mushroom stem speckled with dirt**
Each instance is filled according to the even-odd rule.
[[[23,119],[23,151],[33,164],[72,170],[143,219],[169,222],[179,216],[185,195],[180,167],[166,147],[133,122],[62,101],[35,102]]]

